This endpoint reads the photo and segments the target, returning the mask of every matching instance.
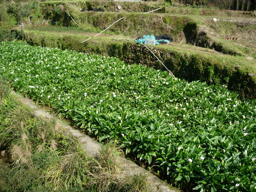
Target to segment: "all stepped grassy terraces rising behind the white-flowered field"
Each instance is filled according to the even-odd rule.
[[[56,1],[54,4],[46,1],[42,3],[45,8],[44,13],[52,15],[47,19],[55,18],[53,16],[56,13],[51,9],[60,9],[58,6],[61,3],[64,2]],[[101,7],[104,3],[99,1],[90,5]],[[77,27],[72,20],[69,20],[69,25],[72,27],[27,26],[25,28],[25,34],[27,35],[23,40],[36,46],[59,47],[61,49],[115,56],[125,62],[163,69],[159,61],[145,48],[132,44],[131,40],[128,40],[130,42],[127,45],[125,40],[118,41],[114,39],[137,38],[145,34],[170,34],[173,36],[174,42],[163,46],[158,45],[151,49],[175,76],[189,81],[206,81],[208,84],[226,84],[231,90],[236,90],[241,95],[255,98],[256,76],[253,76],[253,74],[256,74],[256,25],[247,24],[248,21],[256,20],[253,15],[205,7],[194,9],[166,5],[166,13],[160,14],[163,17],[163,22],[172,28],[170,29],[162,23],[158,13],[142,15],[141,12],[135,11],[136,6],[143,7],[138,2],[131,3],[129,6],[125,3],[120,5],[122,9],[131,12],[114,12],[113,6],[109,10],[110,12],[79,12],[88,6],[87,3],[79,1],[70,4],[64,3],[64,9],[70,12],[82,29]],[[147,11],[163,6],[159,2],[144,2],[143,5],[147,6]],[[58,16],[60,22],[58,25],[64,24],[61,19],[64,15],[61,13]],[[120,20],[101,35],[80,44],[81,41],[101,32],[121,17],[125,17],[125,19]],[[215,22],[213,18],[220,20]],[[188,25],[188,23],[192,24]],[[243,23],[245,23],[244,26],[239,26]],[[122,35],[125,30],[124,35],[126,36]],[[186,44],[184,44],[184,36],[181,31],[185,32]],[[33,33],[38,37],[32,35]],[[46,36],[44,37],[44,35]],[[224,39],[225,36],[238,37],[238,40],[226,40]],[[52,37],[52,39],[49,39],[49,37]],[[212,49],[215,49],[215,51]],[[193,66],[193,63],[196,63],[196,66]],[[248,76],[248,74],[252,76]],[[239,82],[236,79],[239,79]]]

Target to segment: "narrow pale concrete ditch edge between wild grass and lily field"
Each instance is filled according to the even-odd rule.
[[[13,95],[16,95],[18,98],[20,98],[20,100],[23,104],[27,105],[30,109],[32,109],[32,114],[34,116],[36,116],[37,118],[40,118],[40,119],[54,118],[49,113],[39,109],[38,106],[36,106],[32,100],[15,93],[15,91],[13,91],[13,90],[11,91],[11,93]],[[63,134],[65,134],[71,138],[77,138],[78,141],[83,146],[84,151],[86,151],[89,156],[94,157],[97,154],[99,154],[99,149],[102,146],[100,143],[94,141],[89,136],[82,134],[80,131],[73,129],[69,125],[64,124],[64,122],[62,122],[59,119],[57,119],[55,126],[56,126],[57,130],[63,130]],[[169,185],[167,183],[164,183],[157,176],[151,174],[150,172],[141,168],[140,166],[137,166],[132,161],[127,160],[122,157],[118,157],[117,161],[120,164],[120,167],[123,170],[124,175],[126,175],[126,176],[139,175],[141,173],[143,173],[143,174],[145,173],[147,175],[147,183],[150,183],[151,191],[179,192],[178,189],[172,187],[171,185]]]

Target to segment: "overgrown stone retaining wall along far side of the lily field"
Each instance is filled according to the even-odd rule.
[[[126,63],[166,70],[143,45],[111,38],[92,38],[81,44],[86,38],[84,35],[44,35],[35,32],[24,32],[23,35],[23,41],[32,46],[57,47],[117,57]],[[187,54],[162,47],[151,47],[151,50],[177,78],[223,84],[230,90],[237,91],[241,97],[256,98],[255,76],[247,73],[241,66],[227,63],[224,65],[221,63],[222,59],[209,58],[203,54]]]

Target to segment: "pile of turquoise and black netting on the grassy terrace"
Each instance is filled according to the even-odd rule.
[[[137,44],[168,44],[173,41],[173,38],[170,35],[144,35],[143,37],[138,37],[135,42]]]

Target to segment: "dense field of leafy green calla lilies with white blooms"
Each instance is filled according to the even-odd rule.
[[[256,187],[255,101],[116,58],[9,42],[0,57],[13,89],[118,140],[180,189]]]

